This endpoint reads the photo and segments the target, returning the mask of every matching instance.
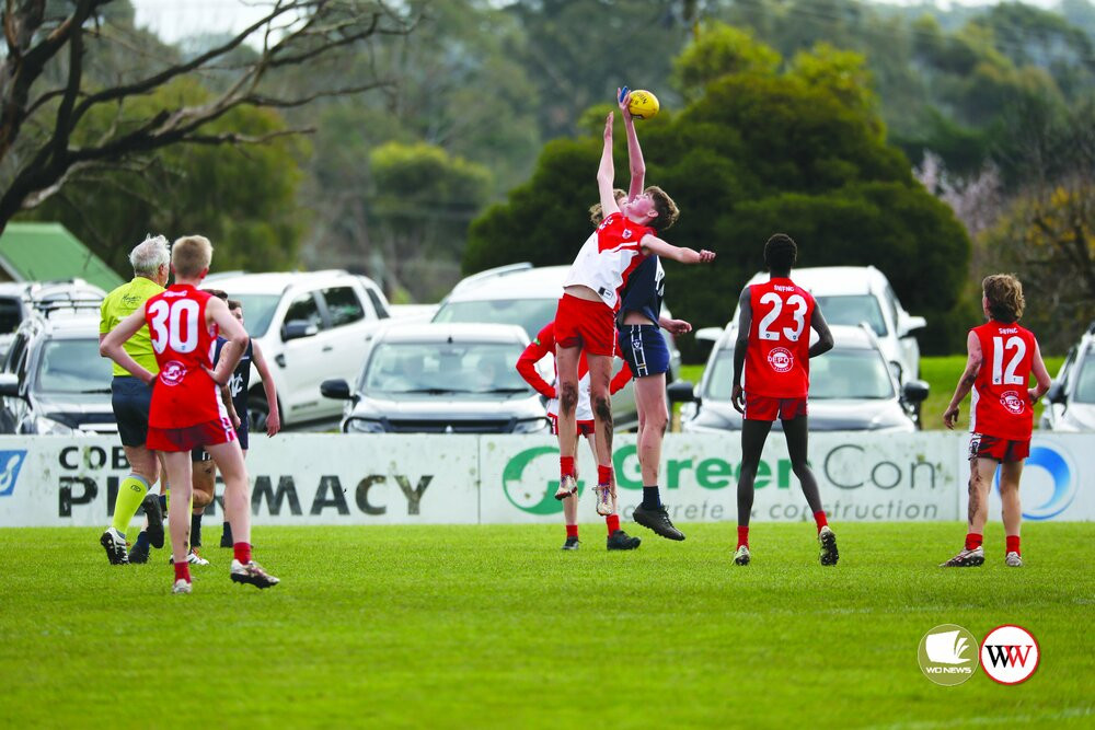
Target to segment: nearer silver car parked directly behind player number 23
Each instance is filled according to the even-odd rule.
[[[915,430],[915,406],[927,397],[927,383],[911,380],[899,386],[869,327],[832,325],[830,329],[835,343],[833,348],[810,360],[810,430]],[[817,335],[810,334],[817,341]],[[712,349],[694,392],[692,384],[687,382],[670,386],[671,399],[684,402],[681,430],[741,430],[741,414],[730,402],[736,339],[737,326],[730,325]],[[783,427],[776,421],[774,428]]]

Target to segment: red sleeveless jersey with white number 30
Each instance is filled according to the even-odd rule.
[[[145,322],[160,364],[150,426],[187,428],[228,416],[217,384],[205,371],[212,369],[217,344],[217,325],[206,326],[209,297],[189,285],[173,285],[145,305]]]

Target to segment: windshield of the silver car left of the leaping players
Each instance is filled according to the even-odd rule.
[[[361,390],[372,393],[531,393],[517,372],[517,343],[381,343]]]

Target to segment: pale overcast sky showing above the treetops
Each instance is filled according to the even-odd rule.
[[[150,27],[169,43],[198,33],[240,31],[262,18],[268,7],[261,0],[131,1],[137,10],[137,24]],[[919,0],[890,1],[914,4]],[[1056,4],[1056,0],[1026,0],[1026,2],[1044,8]],[[994,4],[994,0],[955,0],[954,4]]]

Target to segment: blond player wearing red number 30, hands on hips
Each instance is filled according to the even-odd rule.
[[[218,386],[232,375],[247,346],[247,333],[221,300],[200,291],[209,273],[212,246],[199,235],[175,241],[171,267],[175,283],[149,299],[123,320],[100,345],[100,352],[140,378],[152,389],[148,448],[161,451],[172,485],[170,525],[175,566],[173,593],[191,592],[187,537],[191,529],[191,451],[204,447],[224,477],[224,513],[232,523],[235,551],[230,577],[234,582],[257,588],[276,586],[278,579],[251,558],[251,498],[243,452]],[[160,366],[159,376],[138,364],[123,345],[147,324],[152,349]],[[229,344],[212,369],[217,333]]]

